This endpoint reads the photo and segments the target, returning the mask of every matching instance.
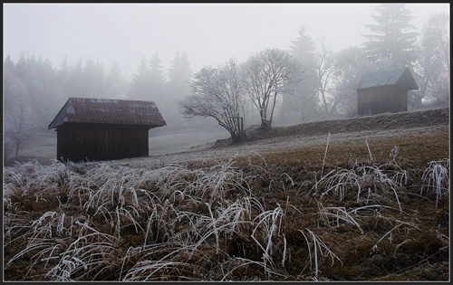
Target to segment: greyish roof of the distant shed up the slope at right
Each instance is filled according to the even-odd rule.
[[[357,83],[356,90],[374,88],[379,86],[398,85],[408,90],[418,90],[417,82],[414,80],[409,68],[402,67],[394,70],[374,71],[363,75]]]

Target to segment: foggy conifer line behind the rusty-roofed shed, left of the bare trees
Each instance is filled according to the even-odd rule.
[[[91,58],[59,66],[21,55],[13,62],[4,60],[4,157],[19,156],[20,150],[35,133],[46,131],[69,97],[117,100],[153,100],[168,121],[170,129],[188,127],[188,122],[171,107],[188,94],[193,71],[185,52],[177,52],[166,73],[157,54],[149,61],[143,57],[130,82],[113,64],[105,71],[101,62]],[[167,76],[169,79],[167,79]]]

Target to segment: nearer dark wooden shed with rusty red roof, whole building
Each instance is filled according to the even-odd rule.
[[[79,162],[148,157],[149,128],[166,125],[152,101],[69,98],[48,128],[57,159]]]

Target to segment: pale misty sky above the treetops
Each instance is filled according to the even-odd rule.
[[[301,25],[313,41],[325,37],[334,51],[365,42],[365,24],[379,4],[3,4],[4,59],[49,59],[56,67],[66,56],[113,62],[123,75],[157,53],[164,69],[176,52],[186,52],[193,71],[205,65],[240,62],[265,48],[287,50]],[[407,4],[421,31],[431,14],[449,4]]]

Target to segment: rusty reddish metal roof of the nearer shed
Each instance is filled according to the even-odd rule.
[[[69,98],[48,128],[66,123],[140,125],[149,128],[167,125],[153,101]]]

